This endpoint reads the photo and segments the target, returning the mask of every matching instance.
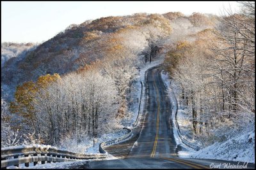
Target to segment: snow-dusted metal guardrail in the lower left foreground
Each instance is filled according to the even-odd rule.
[[[105,159],[106,154],[85,154],[61,150],[50,145],[21,145],[1,148],[1,169],[8,166],[17,166],[25,164],[29,166],[29,162],[34,162],[34,166],[41,161],[42,164],[67,162],[83,159]]]

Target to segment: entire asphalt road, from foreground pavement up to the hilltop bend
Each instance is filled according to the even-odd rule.
[[[88,162],[86,165],[76,168],[192,168],[207,169],[211,167],[224,168],[225,164],[237,165],[238,162],[207,159],[182,159],[175,153],[176,143],[173,136],[170,115],[172,104],[168,98],[168,92],[161,79],[161,67],[148,69],[145,75],[146,95],[144,120],[140,125],[140,136],[132,140],[132,147],[127,156],[122,159],[99,160]],[[128,142],[129,143],[129,142]],[[122,143],[112,146],[111,150],[122,150]],[[127,149],[127,148],[126,148]],[[243,164],[239,162],[239,165]],[[255,164],[247,167],[254,168]]]

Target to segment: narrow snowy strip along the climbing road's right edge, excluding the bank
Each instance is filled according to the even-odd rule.
[[[195,152],[195,150],[186,146],[184,143],[182,143],[181,139],[179,138],[178,129],[177,129],[177,126],[175,124],[175,119],[176,119],[175,118],[175,110],[176,110],[175,93],[173,92],[173,87],[172,87],[172,84],[170,83],[171,80],[168,76],[168,73],[164,73],[162,71],[161,72],[161,77],[164,81],[164,85],[165,85],[165,87],[168,91],[169,98],[170,98],[170,101],[171,101],[172,106],[173,106],[173,108],[172,108],[172,124],[173,124],[173,135],[174,135],[174,138],[175,138],[176,147],[178,145],[182,147],[182,150],[179,150],[179,152],[178,152],[178,156],[188,158],[191,153]]]

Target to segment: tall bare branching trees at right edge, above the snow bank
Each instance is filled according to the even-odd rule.
[[[227,14],[216,27],[219,39],[213,48],[213,60],[216,76],[225,86],[227,110],[236,117],[238,110],[253,111],[255,106],[255,22],[253,14],[248,17],[246,13],[233,14],[228,10]],[[248,90],[252,93],[248,94]]]

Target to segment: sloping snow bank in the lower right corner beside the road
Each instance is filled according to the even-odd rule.
[[[255,164],[255,131],[247,132],[223,143],[214,143],[190,155],[197,159],[221,159]]]

